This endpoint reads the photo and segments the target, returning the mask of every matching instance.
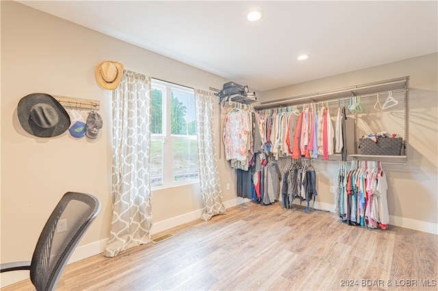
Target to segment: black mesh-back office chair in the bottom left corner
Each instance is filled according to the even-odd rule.
[[[29,270],[36,290],[55,290],[68,258],[100,209],[93,195],[65,193],[42,229],[32,260],[1,264],[1,273]],[[60,220],[62,225],[58,225]]]

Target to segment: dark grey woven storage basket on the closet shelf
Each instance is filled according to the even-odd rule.
[[[359,139],[361,154],[376,156],[400,156],[403,139],[401,137],[380,137],[376,143],[372,139]]]

